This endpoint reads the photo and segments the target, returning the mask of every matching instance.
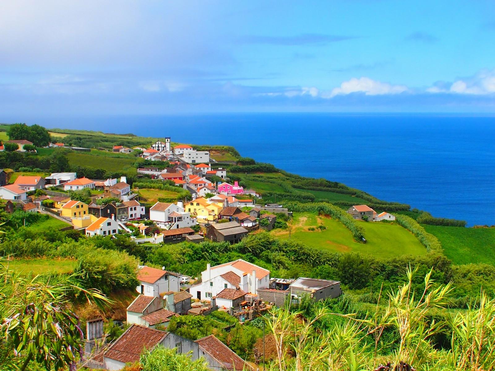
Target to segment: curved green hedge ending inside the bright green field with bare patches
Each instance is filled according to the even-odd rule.
[[[364,228],[350,214],[347,214],[345,210],[338,206],[326,202],[300,203],[290,201],[285,202],[284,206],[295,212],[317,212],[330,215],[332,218],[339,220],[352,233],[352,237],[356,241],[362,241],[364,238]]]

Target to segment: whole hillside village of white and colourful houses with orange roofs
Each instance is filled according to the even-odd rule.
[[[17,144],[19,151],[29,145]],[[211,166],[207,151],[196,151],[189,145],[171,148],[170,138],[158,140],[149,148],[116,145],[112,149],[120,153],[134,150],[142,151],[140,156],[148,161],[170,164],[165,168],[138,168],[138,176],[187,190],[190,196],[176,202],[157,201],[146,207],[125,176],[98,180],[78,178],[73,172],[52,173],[45,178],[20,175],[12,184],[6,184],[2,170],[0,197],[6,200],[5,210],[48,214],[66,222],[67,229],[89,238],[123,234],[138,244],[199,243],[205,239],[234,244],[250,232],[273,229],[275,214],[291,215],[283,205],[257,204],[259,194],[254,189],[244,189],[237,181],[229,183],[225,169]],[[214,182],[212,178],[220,180]],[[71,194],[83,190],[91,193],[90,202],[71,198]],[[364,214],[356,216],[366,218]],[[126,363],[138,361],[144,346],[150,349],[162,344],[179,353],[192,354],[193,359],[205,357],[212,370],[250,369],[214,335],[192,341],[165,332],[171,317],[224,311],[242,324],[272,306],[283,306],[287,301],[297,303],[303,295],[324,300],[342,293],[339,281],[271,278],[268,270],[242,259],[217,266],[208,263],[200,277],[171,272],[165,266],[138,269],[138,296],[127,308],[129,327],[114,342],[101,344],[103,320],[88,321],[85,366],[120,370]]]

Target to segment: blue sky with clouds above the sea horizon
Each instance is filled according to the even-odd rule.
[[[4,0],[0,35],[0,120],[495,113],[493,0]]]

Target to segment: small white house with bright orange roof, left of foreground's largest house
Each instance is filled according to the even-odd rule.
[[[138,272],[136,291],[145,296],[160,296],[160,294],[174,291],[179,292],[180,283],[177,273],[144,266]]]

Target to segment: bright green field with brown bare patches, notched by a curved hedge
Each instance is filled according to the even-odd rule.
[[[355,242],[351,233],[339,221],[323,218],[314,213],[294,213],[291,238],[309,246],[338,252],[358,252],[379,258],[397,255],[425,254],[425,247],[406,229],[391,223],[359,222],[365,228],[367,243]],[[324,231],[308,231],[324,225]],[[289,231],[273,230],[280,238],[289,238]]]

